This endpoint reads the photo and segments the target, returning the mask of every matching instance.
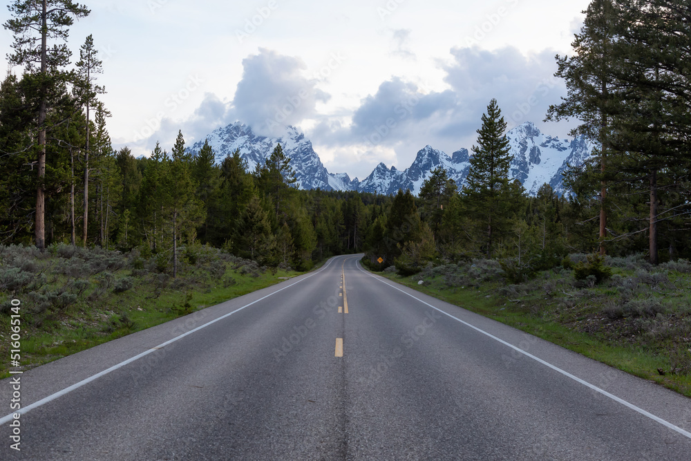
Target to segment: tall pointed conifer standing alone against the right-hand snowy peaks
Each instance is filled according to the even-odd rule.
[[[502,117],[497,100],[491,100],[487,113],[482,115],[482,127],[477,130],[477,146],[473,146],[470,171],[462,194],[466,209],[484,227],[482,247],[491,256],[497,236],[507,227],[509,200],[509,140],[507,122]]]

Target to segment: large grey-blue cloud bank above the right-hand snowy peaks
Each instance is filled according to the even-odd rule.
[[[545,133],[565,137],[569,124],[542,122],[549,105],[566,95],[564,82],[553,77],[554,55],[549,50],[523,55],[512,47],[453,48],[452,59],[439,64],[446,74],[446,91],[429,91],[392,77],[375,94],[363,97],[349,125],[323,120],[307,136],[330,150],[328,168],[358,176],[371,171],[377,157],[407,168],[426,144],[449,154],[470,149],[492,98],[498,100],[509,129],[530,121]]]

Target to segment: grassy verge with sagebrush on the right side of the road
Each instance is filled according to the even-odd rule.
[[[609,263],[614,276],[600,285],[560,267],[507,285],[489,261],[383,275],[691,397],[691,276]]]

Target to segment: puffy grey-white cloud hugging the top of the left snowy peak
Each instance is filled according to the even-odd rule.
[[[297,58],[260,48],[243,59],[243,78],[233,100],[233,115],[256,133],[272,135],[281,125],[298,125],[314,116],[316,102],[330,96],[303,75],[307,68]]]

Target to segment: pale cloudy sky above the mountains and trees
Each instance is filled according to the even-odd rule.
[[[170,150],[178,130],[191,145],[236,121],[262,135],[290,124],[330,172],[363,179],[427,144],[471,149],[492,98],[509,128],[568,138],[575,124],[543,120],[566,95],[555,56],[571,54],[588,0],[83,3],[73,62],[93,35],[113,147],[135,156]]]

